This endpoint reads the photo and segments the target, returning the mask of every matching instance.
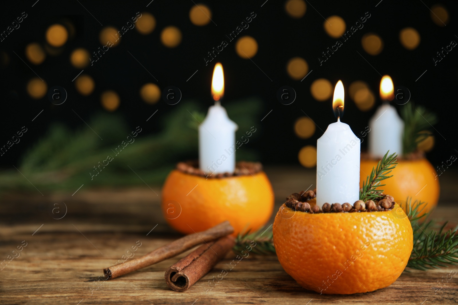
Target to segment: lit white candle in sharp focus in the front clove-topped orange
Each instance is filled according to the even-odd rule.
[[[360,139],[348,124],[340,122],[344,111],[344,85],[334,89],[333,110],[337,122],[327,126],[316,141],[316,204],[353,204],[360,197]]]

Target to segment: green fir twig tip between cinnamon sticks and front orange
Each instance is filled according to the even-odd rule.
[[[256,242],[256,246],[253,246],[253,241]],[[251,250],[249,250],[251,247]],[[250,233],[250,230],[245,233],[237,235],[235,239],[235,246],[232,250],[236,254],[243,255],[242,251],[250,251],[254,254],[268,255],[275,253],[275,247],[273,246],[273,231],[267,228],[261,229]]]

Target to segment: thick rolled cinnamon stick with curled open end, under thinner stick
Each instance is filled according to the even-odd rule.
[[[167,286],[175,291],[185,291],[212,270],[234,245],[234,237],[225,236],[198,247],[167,269]]]

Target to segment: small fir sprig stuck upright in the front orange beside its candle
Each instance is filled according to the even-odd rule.
[[[391,176],[387,176],[398,163],[396,163],[397,159],[396,153],[391,154],[388,156],[387,153],[383,156],[382,160],[378,162],[375,168],[372,168],[371,175],[367,177],[366,181],[363,182],[363,187],[360,191],[360,200],[366,202],[367,200],[374,200],[377,198],[381,198],[382,195],[380,193],[383,190],[378,189],[378,187],[383,187],[385,184],[380,184],[381,181],[388,179]]]

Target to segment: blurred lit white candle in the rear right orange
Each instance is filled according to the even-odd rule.
[[[399,117],[396,108],[388,101],[394,99],[393,81],[385,75],[380,81],[380,98],[383,103],[369,121],[369,154],[382,158],[389,150],[390,153],[402,154],[402,137],[404,122]]]

